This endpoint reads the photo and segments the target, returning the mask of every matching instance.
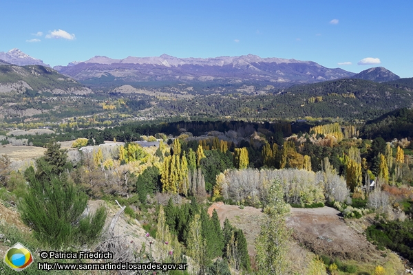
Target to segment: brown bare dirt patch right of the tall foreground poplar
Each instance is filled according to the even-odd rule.
[[[293,237],[315,254],[332,258],[370,261],[376,248],[365,236],[357,233],[339,216],[334,208],[291,208],[287,225]]]

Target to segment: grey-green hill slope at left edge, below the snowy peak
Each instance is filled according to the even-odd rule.
[[[89,94],[92,91],[72,78],[40,65],[0,65],[0,94],[11,91],[52,94]]]

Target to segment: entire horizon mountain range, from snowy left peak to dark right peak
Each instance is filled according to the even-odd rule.
[[[0,65],[41,65],[50,67],[19,49],[0,52]],[[290,87],[341,78],[359,78],[374,82],[398,80],[400,77],[383,67],[370,68],[359,74],[343,69],[329,69],[313,61],[285,58],[220,56],[216,58],[177,58],[162,54],[155,57],[128,56],[113,59],[94,56],[87,61],[74,61],[67,66],[55,66],[57,72],[89,86],[145,83],[218,83],[220,85],[271,85]]]

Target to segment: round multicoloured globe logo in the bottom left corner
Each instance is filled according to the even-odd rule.
[[[16,243],[4,255],[4,263],[12,270],[25,270],[33,263],[32,253],[21,243]]]

